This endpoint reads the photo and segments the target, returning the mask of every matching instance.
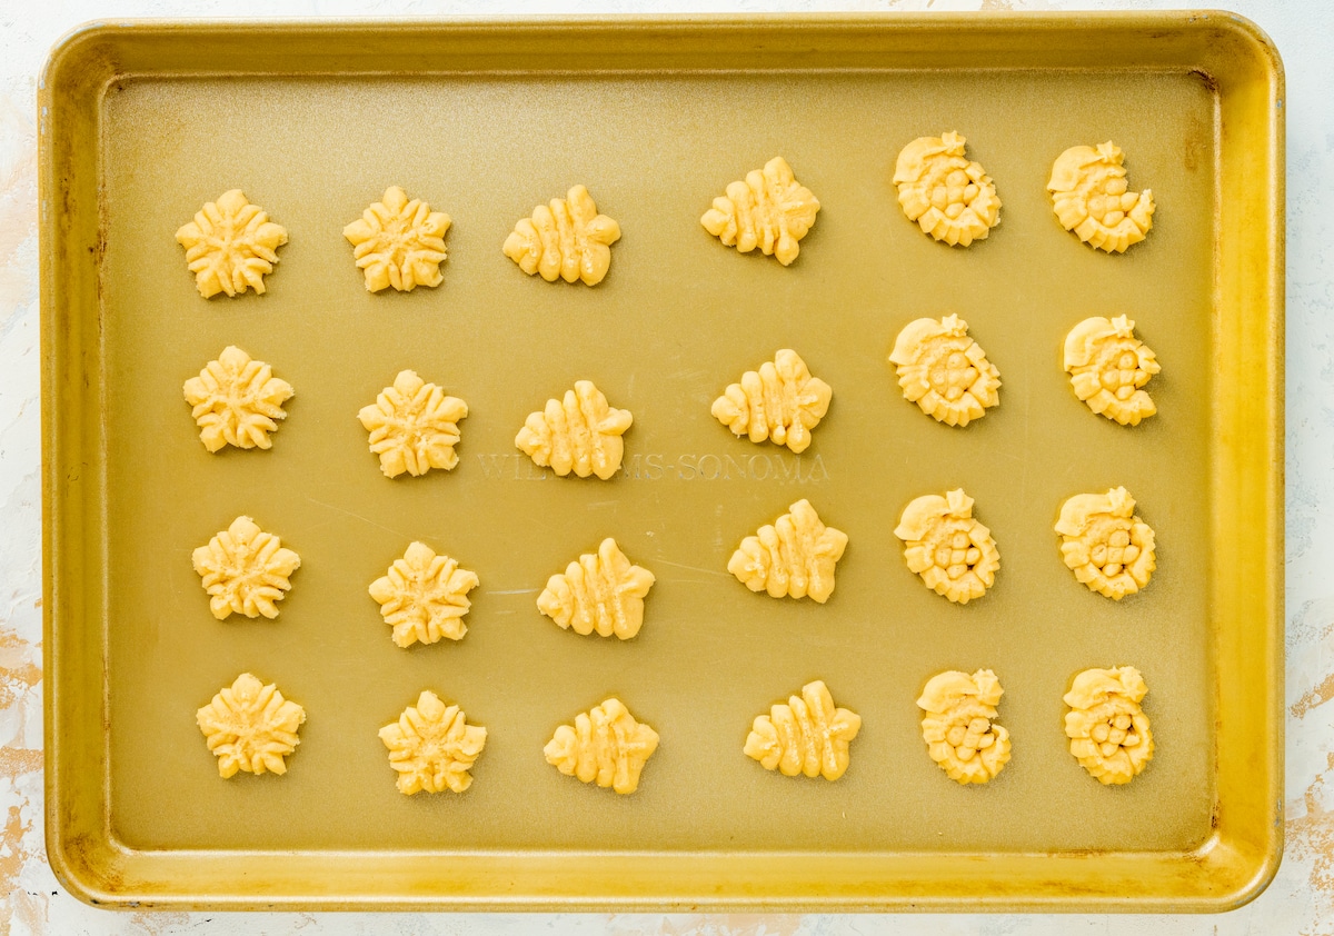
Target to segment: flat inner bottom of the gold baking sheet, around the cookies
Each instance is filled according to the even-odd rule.
[[[1211,588],[1226,573],[1209,555],[1230,536],[1211,436],[1229,341],[1217,115],[1215,84],[1157,68],[120,76],[97,153],[109,839],[144,853],[368,857],[1207,848]],[[1005,205],[968,249],[903,219],[890,181],[903,144],[948,129]],[[1106,139],[1158,203],[1125,256],[1062,231],[1045,191],[1057,155]],[[787,269],[698,223],[779,153],[822,203]],[[594,289],[526,277],[499,249],[575,183],[623,231]],[[454,219],[439,289],[362,287],[342,228],[391,184]],[[172,233],[228,188],[291,240],[265,296],[205,301]],[[1002,405],[966,429],[906,403],[886,361],[908,320],[948,313],[1003,380]],[[1122,313],[1163,365],[1159,413],[1137,428],[1090,413],[1061,369],[1073,324]],[[207,453],[180,399],[227,344],[296,389],[271,452]],[[783,347],[834,387],[799,459],[708,413]],[[454,472],[390,481],[366,449],[356,412],[404,368],[468,401]],[[576,379],[635,416],[610,483],[551,477],[512,445]],[[1067,496],[1117,484],[1159,543],[1149,589],[1119,604],[1074,580],[1051,531]],[[908,500],[955,487],[1002,555],[996,585],[966,608],[928,592],[892,536]],[[800,497],[850,536],[823,607],[752,595],[726,572],[736,543]],[[213,620],[189,565],[241,513],[301,556],[276,621]],[[658,576],[628,643],[559,631],[535,607],[546,577],[604,536]],[[482,579],[462,643],[399,649],[366,593],[414,539]],[[1158,748],[1133,784],[1105,788],[1069,755],[1061,696],[1075,672],[1121,664],[1149,683]],[[962,788],[926,756],[914,700],[931,675],[979,667],[1006,688],[1014,759]],[[285,777],[221,781],[195,727],[241,671],[307,709]],[[740,753],[751,719],[811,679],[863,717],[836,784]],[[463,796],[394,788],[375,732],[424,688],[488,729]],[[555,725],[608,695],[662,736],[632,797],[542,757]],[[428,896],[448,901],[451,884]],[[892,899],[872,887],[867,903]]]

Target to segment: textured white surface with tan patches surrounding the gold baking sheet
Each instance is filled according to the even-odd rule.
[[[1287,69],[1287,848],[1223,916],[109,913],[47,867],[41,828],[41,561],[35,97],[73,25],[129,16],[1157,9],[1162,0],[48,0],[0,3],[0,933],[659,933],[662,936],[1334,936],[1334,4],[1231,0]]]

